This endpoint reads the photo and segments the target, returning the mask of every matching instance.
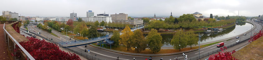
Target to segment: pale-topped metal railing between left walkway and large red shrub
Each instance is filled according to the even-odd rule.
[[[4,34],[5,34],[5,40],[7,40],[8,41],[8,43],[7,43],[7,45],[8,45],[8,50],[11,50],[12,52],[14,52],[13,50],[12,50],[12,48],[10,48],[10,47],[13,47],[13,49],[15,49],[16,48],[16,45],[27,55],[27,60],[35,60],[35,58],[33,58],[28,52],[27,52],[27,50],[25,49],[25,48],[23,48],[22,47],[22,45],[20,45],[19,44],[19,42],[17,42],[17,40],[13,37],[13,36],[11,36],[10,35],[10,33],[9,32],[7,32],[7,30],[5,29],[6,27],[5,27],[5,23],[4,23],[4,26],[3,26],[3,29],[4,29]],[[10,41],[10,42],[9,42]],[[12,41],[12,42],[11,42]],[[10,46],[11,45],[11,46]],[[13,45],[13,46],[12,46]],[[16,52],[14,52],[14,54],[16,54]],[[16,57],[14,57],[14,59],[16,60],[17,58]]]

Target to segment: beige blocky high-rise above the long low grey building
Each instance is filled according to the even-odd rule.
[[[114,15],[111,15],[112,20],[128,20],[128,14],[125,13],[115,13]]]

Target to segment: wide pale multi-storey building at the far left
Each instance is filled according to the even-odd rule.
[[[16,13],[16,12],[3,11],[3,12],[2,12],[2,15],[3,15],[4,17],[6,17],[7,20],[8,20],[9,18],[17,18],[17,19],[19,19],[18,13]]]

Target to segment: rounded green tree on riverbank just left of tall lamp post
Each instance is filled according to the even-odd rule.
[[[190,45],[192,48],[192,45],[196,45],[198,44],[198,35],[194,33],[194,31],[192,29],[190,29],[189,31],[186,32],[187,34],[187,45]]]

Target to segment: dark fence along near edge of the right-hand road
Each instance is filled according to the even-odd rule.
[[[250,38],[248,38],[248,39],[246,39],[246,40],[243,40],[243,41],[240,41],[239,43],[234,43],[234,44],[231,44],[231,45],[227,45],[226,48],[230,48],[230,47],[233,47],[233,46],[235,46],[235,45],[239,45],[239,44],[241,44],[241,43],[244,43],[244,42],[248,41],[249,39],[250,39]],[[201,55],[199,55],[199,56],[190,58],[190,59],[188,59],[188,60],[198,60],[198,59],[201,59],[201,58],[205,58],[206,56],[209,56],[209,55],[211,55],[211,54],[217,53],[217,52],[219,52],[219,51],[221,51],[221,50],[220,50],[220,49],[216,49],[216,50],[210,51],[210,52],[208,52],[208,53],[201,54]]]

